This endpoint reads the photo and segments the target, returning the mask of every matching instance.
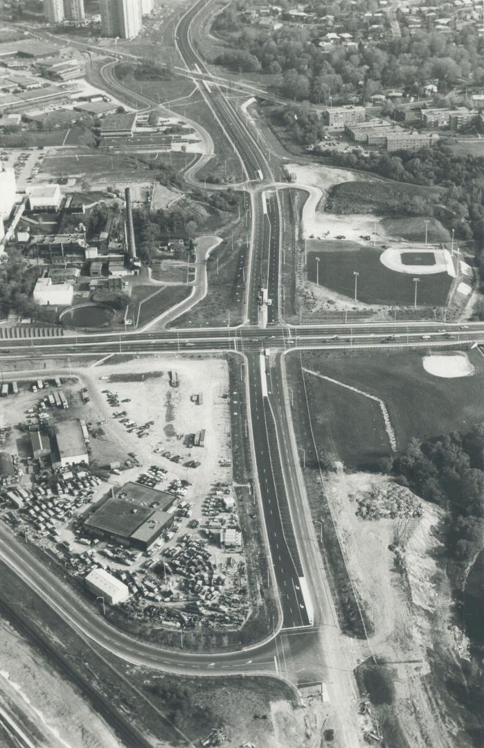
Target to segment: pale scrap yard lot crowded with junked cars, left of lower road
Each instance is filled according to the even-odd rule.
[[[250,603],[227,364],[197,362],[206,379],[190,361],[159,366],[5,381],[1,514],[104,608],[152,627],[239,628]]]

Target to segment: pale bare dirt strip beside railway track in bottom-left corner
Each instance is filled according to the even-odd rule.
[[[0,636],[0,709],[23,732],[50,748],[121,747],[88,702],[3,619]]]

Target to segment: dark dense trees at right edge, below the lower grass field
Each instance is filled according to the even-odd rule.
[[[447,511],[450,556],[473,560],[484,537],[484,424],[423,444],[414,439],[404,455],[383,459],[381,467]]]

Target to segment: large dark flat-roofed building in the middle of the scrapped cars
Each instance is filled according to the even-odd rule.
[[[173,501],[172,494],[129,482],[105,500],[84,527],[98,538],[147,551],[173,523],[174,516],[165,511]]]

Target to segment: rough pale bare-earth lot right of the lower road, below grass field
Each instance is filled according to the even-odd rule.
[[[436,641],[448,660],[455,661],[457,654],[448,583],[436,560],[440,542],[435,529],[442,512],[416,499],[420,518],[359,518],[358,499],[387,485],[383,476],[343,470],[326,481],[349,574],[373,619],[371,652],[377,662],[389,663],[373,666],[375,680],[389,687],[384,694],[370,690],[368,726],[377,727],[392,748],[466,746],[458,713],[444,714],[441,681],[427,654]],[[392,544],[396,551],[390,551]]]

